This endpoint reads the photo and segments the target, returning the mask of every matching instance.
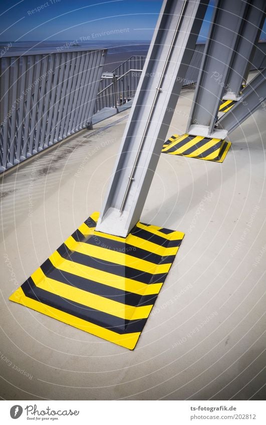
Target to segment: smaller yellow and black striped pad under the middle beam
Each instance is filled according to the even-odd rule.
[[[223,162],[230,146],[230,142],[221,139],[174,134],[164,143],[162,152],[206,161]]]

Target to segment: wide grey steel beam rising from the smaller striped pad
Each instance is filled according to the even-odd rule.
[[[213,134],[242,19],[248,4],[243,0],[218,0],[201,62],[186,133],[223,139]]]

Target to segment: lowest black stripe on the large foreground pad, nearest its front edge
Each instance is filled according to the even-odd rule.
[[[55,295],[52,292],[38,288],[35,286],[32,278],[26,280],[21,287],[25,295],[31,299],[40,301],[42,304],[57,308],[65,313],[69,313],[75,317],[79,317],[80,319],[92,322],[120,334],[141,332],[147,320],[125,320],[112,314],[86,307],[77,302]]]

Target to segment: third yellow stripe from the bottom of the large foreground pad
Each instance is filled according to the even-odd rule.
[[[85,279],[91,279],[95,282],[103,283],[104,285],[108,285],[113,288],[133,292],[139,295],[158,294],[162,287],[162,283],[146,284],[138,282],[137,280],[128,279],[123,276],[117,276],[102,270],[97,270],[93,267],[84,266],[83,264],[75,263],[74,261],[70,261],[61,257],[57,251],[55,251],[49,257],[49,259],[53,266],[60,270],[75,274],[76,276],[84,277]]]

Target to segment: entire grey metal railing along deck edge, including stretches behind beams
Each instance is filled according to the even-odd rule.
[[[204,44],[196,45],[183,86],[194,85]],[[259,42],[250,70],[266,66]],[[88,128],[93,114],[135,95],[145,56],[131,56],[110,80],[101,79],[106,50],[7,51],[0,58],[0,173]]]

